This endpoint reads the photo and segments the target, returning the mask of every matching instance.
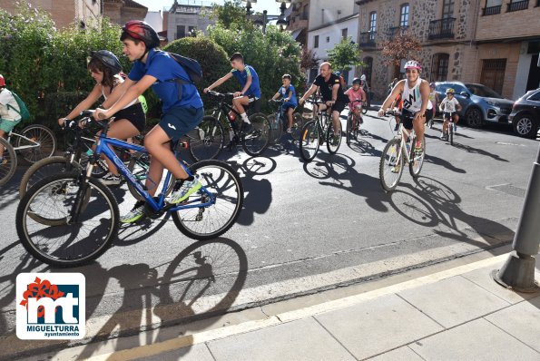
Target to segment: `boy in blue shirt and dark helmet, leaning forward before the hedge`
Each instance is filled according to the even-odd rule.
[[[227,82],[231,77],[235,77],[242,86],[241,92],[234,93],[232,99],[232,105],[234,110],[240,112],[242,121],[246,124],[250,124],[248,115],[246,114],[245,106],[251,102],[256,102],[260,99],[260,84],[259,75],[255,72],[255,69],[251,65],[244,63],[244,57],[240,53],[232,54],[231,59],[232,70],[231,73],[227,73],[218,79],[215,83],[211,84],[208,88],[203,90],[204,93],[208,93],[214,88],[217,88],[222,83]],[[235,118],[233,112],[229,114],[231,119]]]

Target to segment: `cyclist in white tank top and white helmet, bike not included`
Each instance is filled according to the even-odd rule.
[[[403,97],[402,122],[407,130],[414,128],[417,134],[415,151],[423,151],[422,141],[424,141],[424,128],[426,122],[431,119],[433,104],[429,102],[429,83],[420,78],[422,65],[416,60],[405,63],[407,79],[399,81],[383,102],[378,111],[378,116],[384,116],[388,106],[396,99],[398,94]],[[429,112],[427,112],[429,111]]]

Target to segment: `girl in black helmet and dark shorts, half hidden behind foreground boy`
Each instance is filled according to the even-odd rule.
[[[104,99],[101,106],[106,109],[113,106],[122,95],[122,92],[118,91],[120,89],[119,85],[124,82],[123,76],[120,75],[122,65],[116,55],[108,50],[93,52],[88,59],[87,66],[90,75],[95,80],[92,92],[86,96],[83,102],[77,104],[73,111],[58,120],[58,124],[61,126],[64,126],[66,121],[69,122],[77,117],[81,111],[89,109],[101,97]],[[132,138],[143,132],[146,125],[146,116],[138,99],[126,104],[122,110],[114,114],[114,118],[115,120],[109,126],[109,132],[107,133],[111,138]],[[122,178],[113,161],[107,158],[104,158],[104,161],[106,161],[109,171],[101,179],[103,184],[120,184]]]

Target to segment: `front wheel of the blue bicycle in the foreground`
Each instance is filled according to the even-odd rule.
[[[25,216],[27,215],[27,212],[29,209],[31,209],[32,202],[40,196],[41,193],[44,193],[45,195],[48,194],[48,188],[54,185],[55,183],[64,183],[68,182],[70,184],[73,184],[73,190],[74,194],[78,194],[77,192],[81,191],[81,182],[79,182],[80,175],[77,173],[72,174],[56,174],[54,176],[45,178],[44,180],[38,181],[34,187],[32,187],[30,190],[28,190],[25,194],[25,197],[20,201],[19,206],[16,211],[16,229],[17,234],[19,236],[19,239],[21,239],[21,243],[23,243],[23,246],[25,249],[30,253],[32,256],[34,256],[35,259],[39,259],[42,262],[55,266],[55,267],[76,267],[81,266],[83,264],[89,263],[93,259],[97,259],[100,257],[103,252],[105,252],[113,243],[113,240],[116,238],[118,234],[118,228],[119,228],[119,211],[118,211],[118,204],[116,202],[116,199],[114,198],[113,193],[111,190],[109,190],[103,183],[101,183],[99,180],[95,180],[93,178],[86,179],[90,192],[86,191],[85,194],[92,193],[93,190],[95,190],[95,197],[102,196],[103,200],[95,200],[95,207],[93,207],[93,213],[99,212],[100,207],[105,207],[105,211],[109,210],[110,214],[105,214],[102,218],[99,218],[99,220],[96,220],[96,222],[99,222],[99,224],[96,224],[95,227],[92,226],[85,226],[81,227],[80,223],[73,223],[69,224],[67,222],[64,222],[61,226],[54,226],[54,227],[48,227],[41,229],[39,231],[35,231],[34,233],[30,234],[29,228],[32,226],[31,221],[28,221],[28,218]],[[66,193],[67,194],[67,193]],[[53,195],[61,197],[61,195]],[[80,196],[80,195],[79,195]],[[86,198],[86,196],[84,196]],[[67,199],[67,197],[66,197]],[[67,201],[59,201],[59,202],[50,202],[51,205],[62,205],[64,204],[65,209],[69,209],[70,207],[73,207],[73,205],[68,205]],[[95,217],[101,216],[102,213],[98,213]],[[82,215],[81,215],[82,216]],[[93,216],[91,213],[90,216]],[[106,230],[105,239],[101,244],[98,244],[96,242],[96,235],[99,230],[103,228],[103,224],[105,221],[110,221],[110,227]],[[62,227],[65,227],[65,229],[62,229]],[[73,227],[74,228],[74,236],[69,236],[69,229]],[[77,228],[78,227],[78,228]],[[88,239],[89,241],[84,241],[83,239],[80,241],[75,240],[74,238],[79,237],[82,235],[83,231],[87,230],[89,232]],[[39,249],[39,244],[34,242],[34,239],[32,239],[32,236],[39,236],[39,233],[49,233],[48,237],[44,239],[52,239],[52,237],[64,237],[69,236],[65,241],[59,246],[59,249],[52,249],[50,247],[44,246],[43,249]],[[39,239],[37,239],[39,240]],[[54,242],[54,245],[58,245],[59,242]],[[95,246],[96,248],[93,250],[90,250],[90,253],[80,254],[81,251],[75,251],[74,247],[77,245],[83,245],[82,249],[84,252],[90,249],[91,246]],[[59,256],[60,252],[66,252],[67,256]],[[76,254],[75,254],[76,253]]]

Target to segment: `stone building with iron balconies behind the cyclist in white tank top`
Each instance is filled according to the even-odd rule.
[[[358,43],[374,98],[384,99],[388,83],[402,76],[381,54],[383,43],[396,34],[412,34],[422,44],[415,56],[428,81],[464,80],[475,62],[474,34],[480,0],[360,0]],[[399,75],[400,74],[400,75]]]

